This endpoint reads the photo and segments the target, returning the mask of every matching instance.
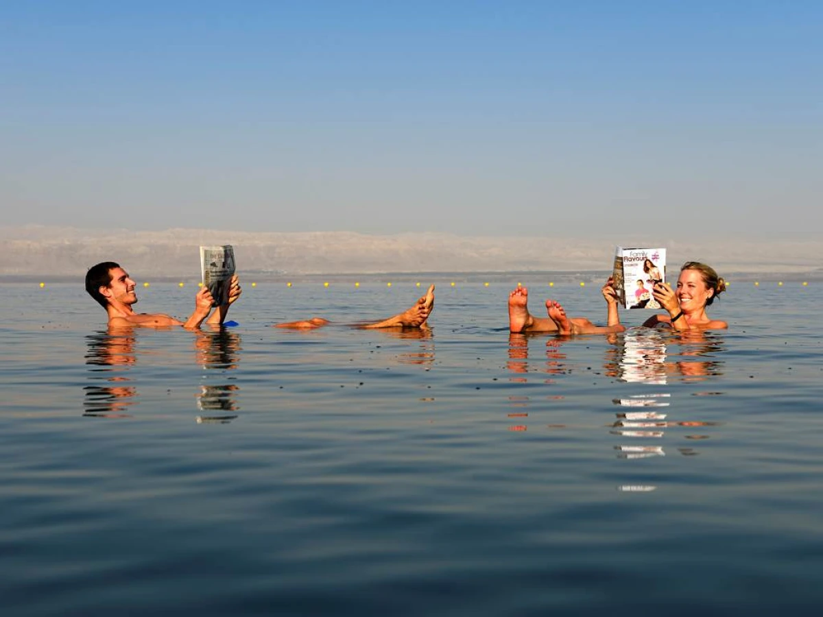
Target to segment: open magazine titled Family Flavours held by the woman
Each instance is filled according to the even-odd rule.
[[[666,249],[617,247],[611,278],[623,308],[660,308],[652,287],[666,282]]]

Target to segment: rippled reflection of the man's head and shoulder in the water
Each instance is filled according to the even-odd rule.
[[[135,362],[133,328],[109,327],[105,332],[86,336],[86,364],[91,380],[103,382],[83,389],[83,415],[95,418],[128,418],[137,390],[129,385],[128,368]]]

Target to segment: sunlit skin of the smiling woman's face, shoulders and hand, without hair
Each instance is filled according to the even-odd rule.
[[[655,327],[666,323],[675,330],[718,330],[728,327],[728,323],[711,319],[706,314],[706,301],[714,297],[698,270],[687,269],[677,278],[677,289],[672,290],[668,283],[657,283],[652,290],[654,299],[666,309],[667,315],[653,315],[644,322],[644,326]],[[672,322],[672,318],[683,313],[681,318]]]

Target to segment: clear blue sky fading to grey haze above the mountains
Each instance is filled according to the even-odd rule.
[[[3,224],[808,237],[821,69],[820,2],[7,2]]]

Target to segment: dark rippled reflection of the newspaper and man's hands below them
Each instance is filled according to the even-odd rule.
[[[203,383],[200,387],[198,424],[226,424],[237,417],[234,412],[239,409],[235,400],[239,387],[230,383],[226,372],[235,370],[239,363],[240,336],[226,328],[217,332],[197,332],[195,350],[198,364],[203,369],[219,372],[206,375],[207,382],[217,383]]]

